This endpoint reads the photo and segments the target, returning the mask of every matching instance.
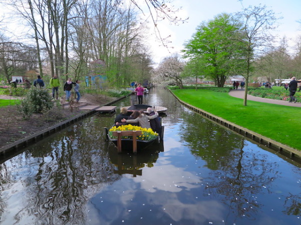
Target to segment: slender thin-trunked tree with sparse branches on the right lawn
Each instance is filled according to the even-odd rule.
[[[242,73],[245,78],[243,105],[247,105],[248,80],[254,70],[252,62],[266,47],[271,46],[273,35],[270,31],[275,28],[278,18],[272,10],[268,10],[265,5],[261,4],[243,8],[237,13],[237,17],[243,23],[242,30],[245,34],[241,41],[247,43],[244,49],[246,54]]]

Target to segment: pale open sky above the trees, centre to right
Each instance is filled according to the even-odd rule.
[[[241,2],[238,0],[174,0],[174,5],[182,6],[181,17],[188,17],[187,22],[178,26],[170,25],[167,22],[159,22],[158,27],[162,36],[171,35],[172,41],[170,50],[160,46],[152,35],[149,38],[149,45],[156,65],[171,53],[180,52],[185,41],[189,40],[195,33],[197,26],[202,21],[213,19],[215,15],[226,12],[234,13],[242,10]],[[243,0],[242,4],[246,8],[249,5],[266,5],[273,10],[278,17],[283,17],[275,31],[280,37],[285,36],[290,46],[294,45],[294,40],[301,34],[301,0]],[[293,49],[290,49],[292,52]]]

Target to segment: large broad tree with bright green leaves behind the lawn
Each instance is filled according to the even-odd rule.
[[[202,22],[192,38],[185,43],[185,57],[198,60],[204,74],[223,86],[229,75],[241,68],[243,44],[241,24],[230,14],[222,13]]]

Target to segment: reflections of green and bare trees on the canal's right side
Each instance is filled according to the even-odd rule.
[[[184,115],[185,116],[185,115]],[[255,219],[262,203],[255,197],[264,187],[269,190],[279,176],[278,164],[268,160],[267,154],[244,150],[243,137],[213,123],[200,115],[184,118],[182,138],[196,157],[207,162],[210,174],[203,178],[206,194],[216,195],[228,205],[229,216]],[[300,213],[300,197],[288,195],[286,214]],[[290,204],[288,204],[290,202]]]

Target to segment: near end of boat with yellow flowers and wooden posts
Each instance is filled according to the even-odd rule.
[[[137,152],[137,149],[146,148],[156,141],[159,142],[159,134],[151,128],[127,124],[118,127],[113,126],[109,130],[105,127],[105,129],[107,138],[118,147],[118,151],[121,151],[122,148]]]

